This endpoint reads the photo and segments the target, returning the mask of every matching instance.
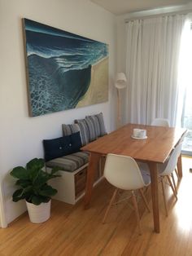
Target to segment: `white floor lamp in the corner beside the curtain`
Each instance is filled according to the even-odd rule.
[[[116,89],[117,89],[117,123],[118,127],[121,126],[121,100],[120,100],[120,90],[126,88],[127,86],[127,79],[125,77],[124,73],[117,73],[116,74],[116,83],[115,83]]]

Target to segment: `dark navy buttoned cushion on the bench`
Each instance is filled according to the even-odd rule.
[[[81,148],[80,132],[56,139],[44,139],[43,146],[46,161],[78,152]]]

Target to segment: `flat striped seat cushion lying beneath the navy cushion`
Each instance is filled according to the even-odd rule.
[[[47,161],[46,166],[53,168],[54,166],[59,166],[60,170],[74,171],[84,166],[89,161],[88,152],[76,152],[68,156],[55,158],[53,160]]]

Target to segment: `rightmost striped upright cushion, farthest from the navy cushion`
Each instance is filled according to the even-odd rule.
[[[107,135],[104,119],[103,119],[103,113],[98,113],[94,116],[87,116],[85,117],[86,120],[89,120],[94,124],[94,129],[97,137],[101,137],[103,135]]]

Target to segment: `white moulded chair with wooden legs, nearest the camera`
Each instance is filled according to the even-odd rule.
[[[133,208],[136,212],[137,224],[139,227],[139,234],[142,233],[139,213],[137,209],[137,200],[134,194],[134,190],[138,190],[141,193],[142,199],[146,205],[147,210],[150,211],[149,205],[147,204],[146,197],[142,192],[142,188],[147,187],[151,183],[150,176],[139,170],[137,162],[132,157],[125,157],[115,154],[108,154],[105,168],[104,177],[109,183],[116,187],[115,192],[111,197],[111,201],[107,207],[106,213],[103,218],[103,223],[107,218],[107,214],[111,208],[111,205],[116,199],[118,190],[129,190],[131,191],[131,197],[133,201]],[[116,202],[117,204],[118,202]]]

